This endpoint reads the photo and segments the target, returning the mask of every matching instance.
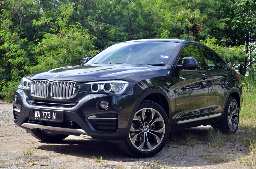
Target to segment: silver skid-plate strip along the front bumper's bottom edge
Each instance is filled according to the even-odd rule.
[[[46,130],[70,132],[70,133],[78,133],[78,134],[86,135],[86,132],[82,129],[69,129],[69,128],[62,128],[62,127],[43,126],[39,124],[30,124],[30,123],[23,123],[21,126],[29,129],[46,129]]]

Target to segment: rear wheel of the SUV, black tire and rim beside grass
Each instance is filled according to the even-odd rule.
[[[221,121],[212,126],[215,130],[220,130],[224,134],[234,134],[237,131],[238,123],[239,106],[237,100],[233,97],[229,97],[227,99]]]

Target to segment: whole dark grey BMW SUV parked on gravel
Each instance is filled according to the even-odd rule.
[[[134,40],[83,62],[22,78],[13,97],[15,124],[41,141],[86,134],[135,157],[158,153],[173,130],[237,130],[240,77],[205,45]]]

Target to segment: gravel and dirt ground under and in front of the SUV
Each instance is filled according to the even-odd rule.
[[[201,126],[187,130],[199,133],[197,148],[186,146],[184,141],[171,142],[169,137],[160,153],[138,159],[125,155],[115,144],[85,135],[69,136],[60,143],[38,141],[14,124],[12,104],[0,102],[0,168],[159,168],[161,165],[166,168],[247,168],[234,161],[238,153],[247,152],[241,142],[226,142],[225,149],[233,154],[231,160],[210,163],[202,154],[209,145],[203,134],[211,128]],[[32,151],[32,155],[24,155]],[[93,156],[102,156],[102,162],[95,162]],[[28,163],[47,166],[28,166]]]

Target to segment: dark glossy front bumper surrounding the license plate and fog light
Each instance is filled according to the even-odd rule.
[[[78,92],[71,99],[53,99],[51,96],[37,98],[30,95],[30,90],[21,89],[16,90],[14,95],[17,95],[17,101],[13,102],[14,122],[28,132],[40,128],[47,132],[59,134],[86,134],[102,140],[125,140],[128,137],[129,119],[138,100],[138,97],[130,95],[86,94],[82,92]],[[101,110],[98,107],[101,100],[109,102],[108,109]],[[31,120],[29,114],[32,108],[63,110],[63,122]],[[106,121],[106,119],[109,120]]]

